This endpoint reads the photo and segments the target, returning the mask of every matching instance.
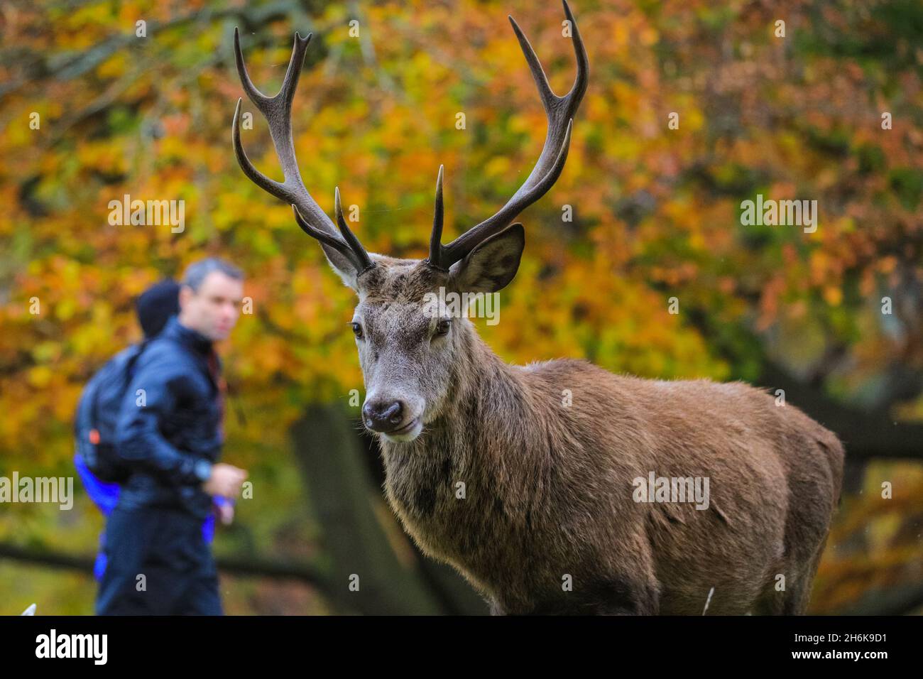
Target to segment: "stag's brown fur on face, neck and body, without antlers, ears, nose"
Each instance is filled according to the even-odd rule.
[[[804,611],[843,475],[831,431],[742,382],[508,365],[466,318],[424,346],[423,296],[451,275],[373,257],[357,285],[366,387],[426,403],[417,438],[381,438],[388,501],[492,612],[701,614],[712,588],[710,614]],[[708,477],[709,508],[634,502],[651,471]]]

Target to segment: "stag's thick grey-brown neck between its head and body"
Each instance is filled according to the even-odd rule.
[[[471,331],[439,417],[412,442],[382,442],[385,493],[426,554],[496,598],[491,574],[517,569],[497,545],[518,540],[529,520],[535,492],[526,486],[546,437],[522,369]]]

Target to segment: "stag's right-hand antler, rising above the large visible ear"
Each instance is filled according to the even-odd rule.
[[[570,91],[563,97],[559,97],[551,91],[548,79],[545,78],[545,71],[542,69],[532,45],[522,34],[516,21],[509,17],[509,23],[512,24],[516,37],[519,39],[522,54],[525,55],[525,59],[529,63],[529,69],[532,71],[535,86],[538,88],[539,96],[542,98],[542,105],[545,107],[545,115],[548,118],[545,147],[538,157],[538,162],[522,186],[507,201],[506,205],[500,208],[493,216],[488,217],[481,224],[473,226],[462,236],[457,237],[449,245],[445,246],[441,244],[442,168],[439,168],[436,216],[433,220],[433,233],[430,237],[428,260],[429,265],[434,268],[448,271],[452,264],[456,261],[461,261],[479,243],[506,228],[516,218],[516,215],[545,195],[548,189],[557,181],[561,170],[564,169],[564,162],[567,160],[570,145],[570,127],[573,125],[573,115],[576,113],[577,107],[583,98],[583,93],[586,91],[590,64],[586,56],[586,49],[583,47],[580,31],[577,30],[577,23],[570,13],[567,0],[563,0],[563,2],[564,14],[567,15],[570,27],[573,30],[571,40],[574,45],[574,54],[577,56],[577,77],[574,79],[574,84]]]

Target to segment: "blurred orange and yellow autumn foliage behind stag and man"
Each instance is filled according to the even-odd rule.
[[[501,322],[478,323],[497,353],[718,380],[755,380],[768,357],[801,375],[823,368],[829,394],[870,406],[880,405],[875,394],[893,366],[923,370],[923,6],[572,6],[590,88],[563,175],[522,216],[529,243],[501,293]],[[313,558],[298,546],[318,528],[300,509],[284,432],[306,403],[361,391],[346,325],[353,296],[290,208],[234,161],[231,118],[243,96],[234,26],[251,77],[269,92],[281,84],[294,30],[313,31],[293,115],[306,186],[329,212],[340,187],[344,205],[358,206],[354,229],[368,249],[423,257],[439,164],[454,237],[497,210],[542,147],[545,118],[508,12],[563,93],[574,64],[557,3],[6,3],[0,473],[70,473],[78,394],[138,340],[133,298],[220,255],[246,270],[254,300],[222,346],[247,417],[246,426],[229,419],[225,456],[275,494],[239,516],[219,550]],[[780,18],[785,38],[773,35]],[[139,19],[146,38],[135,36]],[[244,110],[254,114],[243,133],[250,158],[280,176],[265,123],[246,99]],[[30,129],[33,112],[40,129]],[[466,129],[455,127],[459,112]],[[670,112],[680,116],[676,130]],[[881,128],[883,112],[893,129]],[[742,226],[740,201],[757,193],[818,200],[819,228]],[[108,203],[125,194],[185,200],[185,231],[110,225]],[[573,222],[562,222],[565,204]],[[885,296],[891,317],[881,315]],[[923,418],[923,399],[901,413]],[[917,526],[921,502],[917,492],[901,505]],[[85,505],[80,514],[91,515]],[[845,523],[874,507],[852,503]],[[99,525],[60,514],[5,508],[0,535],[89,550]],[[869,550],[869,569],[884,571],[876,559],[919,564],[918,534],[898,548],[878,534],[885,528],[868,529],[875,545],[893,546],[878,557]],[[833,559],[822,578],[839,567]],[[843,578],[862,589],[869,578],[850,570],[855,563],[840,564]],[[832,591],[820,598],[829,609],[852,596]]]

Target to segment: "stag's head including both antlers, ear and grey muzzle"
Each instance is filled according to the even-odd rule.
[[[232,134],[237,162],[260,188],[292,205],[295,222],[308,236],[318,240],[334,271],[357,294],[359,303],[352,326],[366,382],[363,422],[366,428],[390,442],[413,441],[427,423],[438,418],[460,371],[470,366],[476,353],[471,321],[464,314],[448,313],[444,306],[434,309],[426,303],[427,294],[493,293],[508,285],[519,268],[525,245],[522,224],[511,223],[545,195],[564,168],[572,116],[586,91],[589,72],[586,50],[566,1],[564,13],[572,30],[577,77],[563,97],[551,91],[532,45],[509,17],[547,116],[545,146],[538,162],[498,212],[448,245],[442,244],[442,167],[439,167],[429,256],[423,260],[395,259],[367,252],[343,218],[340,189],[334,192],[334,225],[305,188],[294,154],[292,101],[311,34],[302,38],[295,33],[282,89],[268,97],[258,91],[247,75],[240,39],[234,30],[237,72],[250,101],[269,123],[284,181],[263,175],[247,159],[240,140],[240,99],[234,111]]]

